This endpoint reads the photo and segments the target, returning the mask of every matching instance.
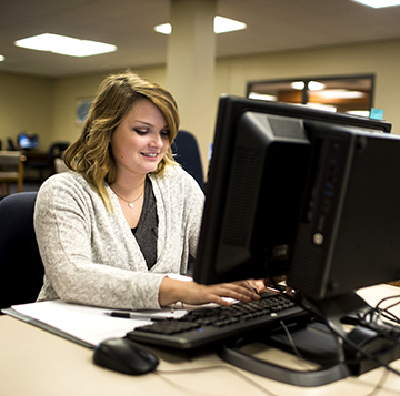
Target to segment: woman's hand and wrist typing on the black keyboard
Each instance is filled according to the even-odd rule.
[[[196,282],[182,282],[166,276],[160,285],[159,303],[161,306],[178,301],[191,305],[217,303],[230,306],[232,303],[223,297],[248,303],[258,301],[260,298],[258,293],[262,293],[264,288],[263,281],[254,280],[201,285]]]

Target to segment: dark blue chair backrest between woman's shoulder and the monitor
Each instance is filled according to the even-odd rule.
[[[200,187],[204,190],[204,175],[201,164],[200,150],[194,135],[180,130],[172,143],[172,153],[176,161],[190,173]]]

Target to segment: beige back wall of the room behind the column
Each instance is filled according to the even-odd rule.
[[[216,69],[214,111],[204,116],[213,124],[218,97],[221,93],[244,95],[248,81],[374,73],[373,105],[384,110],[384,119],[393,124],[393,133],[400,134],[399,70],[400,40],[220,59]],[[138,71],[166,84],[162,65]],[[74,140],[80,133],[76,121],[77,100],[93,97],[103,77],[99,73],[53,81],[0,74],[0,138],[31,130],[40,133],[43,149],[53,140]],[[204,164],[212,134],[213,131],[197,134]]]

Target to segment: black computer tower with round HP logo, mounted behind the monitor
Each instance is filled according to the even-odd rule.
[[[312,123],[288,284],[313,299],[400,278],[400,138]]]

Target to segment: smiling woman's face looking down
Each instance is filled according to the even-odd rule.
[[[169,148],[169,126],[159,108],[140,99],[111,136],[117,173],[146,175],[156,171]]]

